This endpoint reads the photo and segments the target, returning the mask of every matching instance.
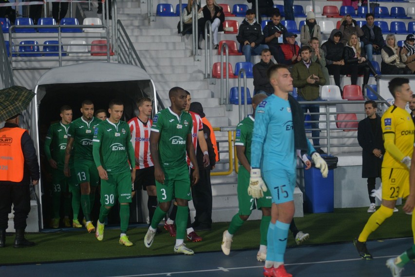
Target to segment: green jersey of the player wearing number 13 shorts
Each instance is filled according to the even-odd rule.
[[[73,155],[76,159],[85,159],[94,161],[92,156],[92,139],[94,138],[94,129],[101,119],[93,117],[91,121],[86,121],[80,117],[69,124],[68,137],[74,138]]]

